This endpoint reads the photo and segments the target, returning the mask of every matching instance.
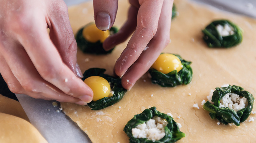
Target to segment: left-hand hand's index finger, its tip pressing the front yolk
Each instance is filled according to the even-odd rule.
[[[63,63],[56,47],[49,39],[44,24],[42,20],[22,24],[17,33],[22,37],[19,38],[20,43],[44,80],[70,96],[90,102],[93,91]]]

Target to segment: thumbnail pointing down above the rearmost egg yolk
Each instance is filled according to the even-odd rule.
[[[97,13],[95,23],[100,30],[108,30],[111,24],[110,15],[106,12]]]

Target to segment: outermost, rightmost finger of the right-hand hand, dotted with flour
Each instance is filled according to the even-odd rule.
[[[173,1],[163,2],[161,15],[159,18],[156,35],[147,45],[134,64],[126,71],[122,77],[122,85],[130,89],[136,81],[145,74],[152,64],[156,61],[162,50],[168,45],[170,40],[171,11]]]

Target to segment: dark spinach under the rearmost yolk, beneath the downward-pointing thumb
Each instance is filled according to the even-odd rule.
[[[103,49],[103,45],[102,45],[103,43],[100,40],[96,41],[95,43],[92,43],[84,38],[83,29],[89,26],[90,24],[94,24],[94,23],[89,23],[78,30],[75,36],[77,47],[79,47],[83,53],[97,54],[97,55],[111,53],[114,50],[114,48],[109,51],[105,51]],[[117,33],[118,29],[117,27],[111,27],[109,31],[110,31],[110,35],[113,35]]]

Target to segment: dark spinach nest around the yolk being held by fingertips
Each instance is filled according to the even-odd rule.
[[[111,90],[114,91],[113,95],[110,97],[104,97],[102,99],[87,103],[92,110],[103,109],[119,102],[127,91],[122,87],[121,78],[115,78],[113,76],[104,74],[105,71],[105,69],[91,68],[86,70],[83,74],[83,81],[90,76],[100,76],[105,78],[110,83]]]

